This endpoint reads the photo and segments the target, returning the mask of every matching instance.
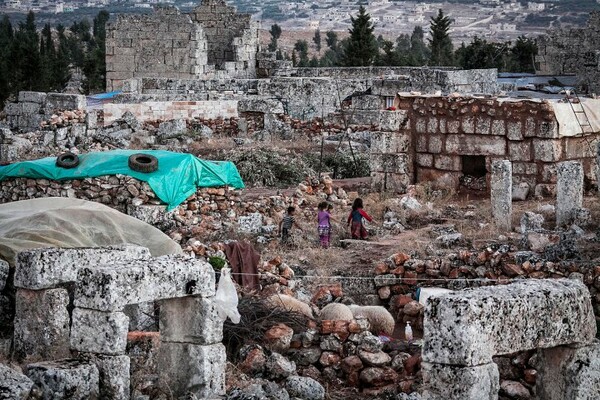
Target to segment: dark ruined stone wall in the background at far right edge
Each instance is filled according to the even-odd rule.
[[[576,74],[589,93],[600,93],[600,12],[590,14],[585,28],[552,28],[537,40],[540,73]]]

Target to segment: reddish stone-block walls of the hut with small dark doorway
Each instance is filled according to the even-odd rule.
[[[484,157],[481,173],[488,179],[493,160],[510,160],[514,185],[526,184],[530,193],[540,195],[554,192],[559,161],[581,160],[588,183],[595,180],[596,135],[559,137],[558,122],[547,103],[399,96],[396,107],[403,118],[398,134],[410,138],[405,148],[415,162],[413,175],[401,180],[458,188],[461,178],[471,174],[469,165],[481,162],[474,157]],[[373,142],[374,149],[377,154],[399,154],[401,158],[406,151],[379,138]],[[377,159],[374,155],[373,165]]]

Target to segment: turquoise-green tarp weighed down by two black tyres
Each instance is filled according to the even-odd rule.
[[[129,168],[129,156],[151,154],[158,159],[158,170],[136,172]],[[242,189],[244,182],[230,161],[205,161],[186,153],[163,150],[115,150],[79,155],[76,168],[56,166],[56,157],[22,161],[0,167],[0,181],[6,178],[67,180],[102,175],[129,175],[148,182],[154,193],[172,210],[196,192],[198,187],[231,186]]]

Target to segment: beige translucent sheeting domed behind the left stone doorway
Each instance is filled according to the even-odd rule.
[[[0,258],[11,265],[26,249],[121,244],[146,247],[154,257],[183,252],[152,225],[92,201],[50,197],[0,204]]]

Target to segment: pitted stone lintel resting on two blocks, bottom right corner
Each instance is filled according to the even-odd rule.
[[[581,282],[527,281],[433,297],[424,329],[425,399],[497,399],[492,356],[535,348],[548,361],[555,357],[542,365],[541,398],[598,395],[598,366],[578,361],[593,357],[600,346]]]

